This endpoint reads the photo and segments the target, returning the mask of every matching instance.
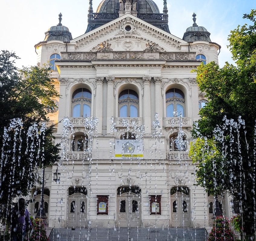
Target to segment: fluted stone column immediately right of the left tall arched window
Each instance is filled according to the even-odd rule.
[[[102,85],[103,85],[104,77],[96,77],[96,98],[95,98],[95,117],[98,118],[98,135],[102,136]]]

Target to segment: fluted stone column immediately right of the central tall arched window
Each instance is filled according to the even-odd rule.
[[[144,84],[144,93],[143,93],[143,119],[145,125],[145,135],[151,135],[151,105],[150,105],[150,82],[151,77],[143,76],[142,77]]]

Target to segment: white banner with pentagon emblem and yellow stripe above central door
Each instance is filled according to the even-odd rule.
[[[140,140],[116,140],[116,159],[143,159],[143,142]]]

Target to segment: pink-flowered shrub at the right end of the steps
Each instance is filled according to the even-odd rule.
[[[208,241],[235,241],[234,233],[230,228],[229,219],[217,217],[209,233]]]

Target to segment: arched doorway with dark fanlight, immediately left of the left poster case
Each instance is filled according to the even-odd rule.
[[[68,227],[85,227],[87,212],[87,189],[70,187],[68,197]]]

